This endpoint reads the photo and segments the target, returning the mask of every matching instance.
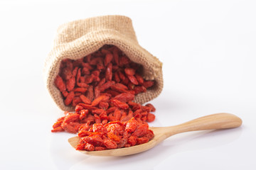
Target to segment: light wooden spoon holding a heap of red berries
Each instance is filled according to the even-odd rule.
[[[149,129],[153,130],[154,138],[142,145],[136,145],[134,147],[124,147],[119,149],[108,149],[103,151],[80,152],[93,156],[125,156],[129,154],[137,154],[139,152],[144,152],[148,149],[151,149],[152,147],[158,145],[160,142],[165,140],[167,137],[181,132],[237,128],[240,125],[242,125],[242,120],[236,115],[230,113],[217,113],[213,115],[206,115],[204,117],[182,123],[181,125],[163,128],[151,127]],[[68,142],[72,147],[76,147],[76,145],[78,145],[79,139],[79,137],[71,137],[70,139],[68,139]]]

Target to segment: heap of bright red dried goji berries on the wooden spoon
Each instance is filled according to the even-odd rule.
[[[125,123],[114,121],[102,125],[95,123],[90,130],[81,130],[76,147],[78,150],[100,151],[105,149],[117,149],[132,147],[149,142],[154,137],[149,125],[139,124],[134,118]]]

